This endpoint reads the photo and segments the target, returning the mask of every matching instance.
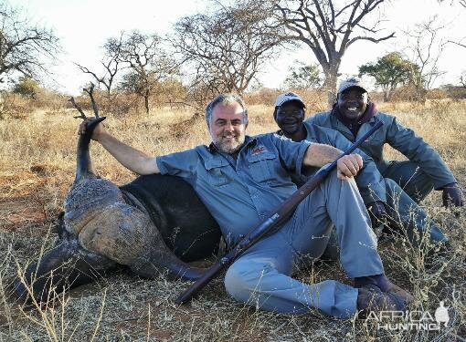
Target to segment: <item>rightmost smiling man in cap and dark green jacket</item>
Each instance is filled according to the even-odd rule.
[[[361,146],[374,161],[380,173],[386,178],[387,201],[399,219],[410,226],[424,227],[425,212],[419,210],[422,201],[432,189],[443,191],[443,204],[462,206],[461,189],[452,172],[442,161],[440,154],[432,149],[413,130],[397,122],[396,117],[377,111],[376,104],[370,101],[367,88],[360,78],[347,78],[341,82],[336,102],[330,112],[317,113],[306,119],[307,123],[340,131],[350,141],[355,141],[367,130],[382,121],[384,126],[377,130]],[[408,161],[386,161],[383,147],[388,143],[403,153]],[[409,211],[416,213],[409,215]],[[413,216],[416,216],[414,219]],[[435,224],[430,225],[430,239],[446,242],[447,239]]]

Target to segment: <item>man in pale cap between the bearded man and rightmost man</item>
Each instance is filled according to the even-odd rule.
[[[305,114],[304,110],[305,106],[302,99],[294,93],[282,94],[277,98],[275,103],[274,119],[281,128],[281,134],[294,141],[310,140],[326,143],[341,150],[345,150],[347,146],[351,144],[347,137],[344,137],[344,135],[337,130],[329,130],[319,127],[313,124],[311,119],[307,119],[303,122]],[[387,127],[383,127],[380,130],[386,129]],[[375,133],[375,136],[376,135],[377,132]],[[353,140],[355,140],[355,137],[353,137]],[[367,142],[363,144],[362,150],[368,154],[370,151],[368,152],[365,150],[366,144]],[[371,155],[369,154],[369,156]],[[378,167],[380,159],[374,158],[374,160],[377,162]],[[373,171],[372,169],[370,171],[375,172],[380,176],[380,171]],[[314,171],[308,172],[307,175],[312,175],[312,173],[314,173]],[[381,219],[384,216],[392,217],[395,219],[395,222],[407,225],[408,239],[412,243],[418,244],[418,234],[415,232],[424,232],[428,228],[429,224],[429,236],[432,242],[444,243],[447,241],[447,238],[441,232],[440,228],[435,223],[427,222],[426,213],[418,206],[417,202],[414,202],[408,194],[400,188],[396,181],[385,178],[383,183],[383,192],[385,192],[384,196],[379,196],[377,198],[378,193],[380,193],[378,190],[380,188],[380,183],[376,183],[371,186],[370,181],[367,181],[368,179],[374,179],[374,175],[371,177],[367,175],[367,172],[365,174],[364,171],[362,171],[358,175],[358,178],[359,181],[357,178],[356,181],[358,181],[358,187],[361,194],[372,192],[372,197],[370,197],[372,202],[365,201],[365,204],[371,214],[373,226],[379,225],[378,223],[383,221]],[[332,244],[332,241],[330,244]],[[330,251],[332,250],[330,249]],[[329,255],[328,252],[327,255]],[[332,253],[330,253],[330,255],[332,255]]]

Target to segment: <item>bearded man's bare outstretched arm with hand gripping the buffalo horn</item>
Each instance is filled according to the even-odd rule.
[[[86,130],[86,121],[79,126],[79,134]],[[120,140],[112,137],[100,123],[92,132],[92,140],[99,141],[105,150],[119,161],[125,168],[138,174],[160,173],[153,157],[148,156],[140,150],[126,145]]]

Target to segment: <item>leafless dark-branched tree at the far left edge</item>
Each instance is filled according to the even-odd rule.
[[[20,11],[0,4],[0,82],[13,74],[39,78],[59,51],[58,37],[48,28],[31,24]]]

